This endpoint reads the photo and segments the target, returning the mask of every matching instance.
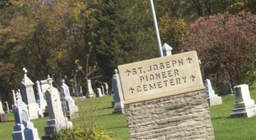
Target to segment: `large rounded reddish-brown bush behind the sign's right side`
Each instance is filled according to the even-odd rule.
[[[240,12],[202,17],[184,37],[184,51],[196,50],[204,79],[218,86],[252,83],[256,69],[256,15]]]

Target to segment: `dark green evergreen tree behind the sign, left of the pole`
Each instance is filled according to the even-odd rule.
[[[157,57],[148,1],[100,1],[94,17],[93,46],[106,78],[120,64]]]

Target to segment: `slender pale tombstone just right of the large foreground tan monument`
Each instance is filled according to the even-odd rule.
[[[65,110],[66,116],[68,118],[76,118],[78,115],[78,108],[74,99],[70,96],[70,91],[68,86],[65,84],[65,80],[61,80],[61,83],[61,97],[67,107],[67,110]]]

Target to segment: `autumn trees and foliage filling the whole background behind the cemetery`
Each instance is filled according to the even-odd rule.
[[[193,34],[189,32],[193,31],[196,24],[202,24],[202,27],[198,25],[198,29],[194,29],[196,31],[194,35],[203,33],[201,31],[209,25],[207,24],[209,22],[212,22],[212,25],[219,23],[215,24],[216,27],[221,26],[221,21],[225,22],[225,31],[216,31],[218,43],[203,45],[204,42],[209,41],[205,38],[208,36],[206,33],[205,36],[195,38],[199,44],[206,47],[198,50],[199,52],[216,47],[224,49],[209,52],[209,58],[216,60],[221,58],[224,62],[205,58],[209,63],[213,63],[211,69],[205,68],[203,71],[205,78],[209,76],[214,83],[221,84],[222,81],[227,81],[235,85],[242,81],[250,81],[248,76],[255,76],[255,61],[253,64],[255,55],[250,52],[252,51],[250,47],[255,47],[253,46],[255,30],[250,31],[250,27],[255,25],[255,22],[252,22],[255,20],[253,14],[256,13],[254,0],[155,0],[154,4],[162,43],[172,46],[173,53],[181,52],[184,47],[186,50],[191,50],[189,43],[194,45],[193,47],[197,46],[197,43],[189,42],[189,38],[193,38]],[[239,15],[243,10],[245,12]],[[232,15],[228,15],[227,12]],[[218,15],[215,18],[209,17],[216,14]],[[214,19],[218,17],[223,19],[219,22],[215,21]],[[12,102],[10,91],[19,88],[22,67],[28,69],[28,76],[32,81],[44,80],[47,74],[51,74],[56,85],[60,83],[61,78],[66,78],[68,85],[74,87],[76,81],[76,84],[82,85],[86,91],[86,78],[79,69],[86,67],[90,70],[97,67],[97,71],[88,77],[101,76],[92,80],[93,87],[97,87],[101,84],[99,81],[110,83],[116,66],[151,59],[158,54],[154,22],[148,1],[4,0],[0,1],[0,18],[0,96],[2,101]],[[237,21],[240,21],[238,25],[236,25]],[[255,29],[255,26],[252,28]],[[224,28],[220,27],[220,29]],[[225,42],[226,39],[227,42]],[[232,41],[232,39],[235,40]],[[218,46],[221,42],[223,44]],[[246,46],[244,43],[247,43]],[[226,46],[234,49],[228,51],[230,48]],[[236,50],[243,50],[243,52]],[[228,59],[225,52],[230,55]],[[200,58],[204,56],[203,53],[198,54]],[[246,56],[239,58],[241,54]],[[249,59],[250,62],[247,61]],[[232,60],[239,60],[239,64],[234,66]],[[244,60],[246,64],[243,64]],[[204,62],[203,60],[203,64]],[[220,64],[221,66],[217,66]],[[234,74],[238,71],[243,71],[244,74]],[[227,74],[228,78],[216,76],[220,73],[230,74]],[[237,80],[237,76],[240,80]],[[244,80],[241,80],[243,78]]]

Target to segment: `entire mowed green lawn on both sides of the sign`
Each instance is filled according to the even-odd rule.
[[[256,101],[256,83],[250,87],[252,99]],[[109,132],[116,134],[116,139],[129,139],[129,130],[125,120],[125,115],[113,114],[111,108],[113,97],[105,97],[93,100],[85,99],[76,101],[79,107],[79,117],[72,119],[73,125],[90,125],[92,123],[92,109],[97,108],[94,113],[95,123]],[[214,128],[215,139],[256,139],[256,116],[252,118],[230,118],[229,113],[232,111],[235,102],[234,95],[222,97],[223,104],[211,106],[211,120]],[[92,107],[94,106],[94,107]],[[38,129],[39,136],[44,136],[44,127],[48,117],[32,120]],[[14,118],[12,113],[8,113],[8,122],[0,123],[0,139],[12,139]]]

